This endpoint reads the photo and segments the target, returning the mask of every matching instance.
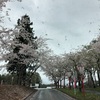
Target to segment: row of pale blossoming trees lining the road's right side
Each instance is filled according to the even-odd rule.
[[[75,52],[49,56],[45,61],[43,70],[57,88],[65,87],[66,79],[69,88],[78,87],[80,91],[84,83],[89,87],[100,87],[100,36]]]

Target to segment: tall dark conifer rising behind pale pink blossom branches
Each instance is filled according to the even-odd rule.
[[[17,73],[19,85],[25,85],[27,66],[37,58],[37,37],[34,37],[33,28],[30,27],[32,24],[28,15],[18,19],[11,44],[12,52],[7,55],[8,71]]]

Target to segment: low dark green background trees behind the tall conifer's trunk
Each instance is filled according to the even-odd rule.
[[[27,77],[26,77],[26,80],[27,80],[26,86],[29,86],[28,74],[29,73],[27,73]],[[0,75],[0,84],[1,85],[17,85],[17,74]],[[32,86],[35,86],[35,84],[39,84],[39,85],[42,84],[41,77],[40,77],[39,73],[37,73],[37,72],[32,76],[32,81],[31,81]]]

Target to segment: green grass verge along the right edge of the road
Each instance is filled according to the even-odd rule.
[[[62,91],[66,94],[68,94],[69,96],[75,98],[76,100],[100,100],[100,95],[96,95],[93,93],[80,93],[78,90],[76,91],[76,94],[74,93],[74,90],[70,90],[68,88],[66,89],[58,89],[59,91]]]

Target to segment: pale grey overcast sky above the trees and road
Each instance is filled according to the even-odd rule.
[[[47,43],[55,54],[87,45],[100,33],[99,0],[23,0],[8,2],[2,15],[6,10],[11,21],[6,17],[3,25],[14,28],[18,18],[29,15],[35,35],[50,38]]]

